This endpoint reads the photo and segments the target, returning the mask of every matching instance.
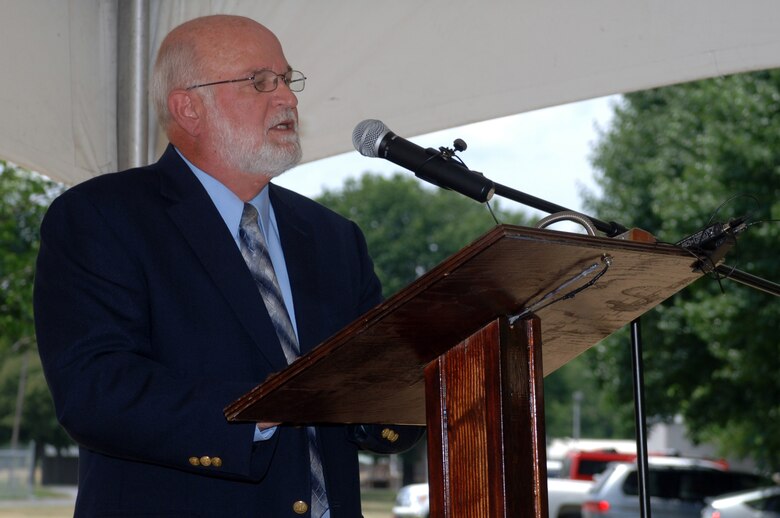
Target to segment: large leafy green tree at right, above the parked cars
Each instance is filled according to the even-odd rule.
[[[588,208],[672,243],[748,216],[727,263],[777,281],[778,142],[780,70],[627,94],[594,151],[603,196]],[[778,322],[777,298],[712,277],[644,317],[648,415],[681,414],[693,440],[780,470]],[[627,335],[590,358],[630,419]]]

